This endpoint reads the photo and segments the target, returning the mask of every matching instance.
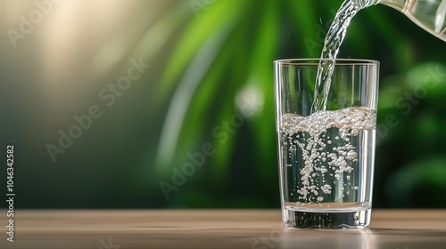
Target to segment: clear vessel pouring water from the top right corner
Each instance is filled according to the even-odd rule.
[[[403,12],[419,27],[446,42],[446,0],[359,0],[364,7],[384,4]]]

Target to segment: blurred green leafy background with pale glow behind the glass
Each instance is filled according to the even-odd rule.
[[[16,208],[279,207],[272,61],[318,58],[341,0],[36,3],[0,5]],[[446,207],[445,49],[384,5],[351,22],[339,57],[381,61],[375,207]]]

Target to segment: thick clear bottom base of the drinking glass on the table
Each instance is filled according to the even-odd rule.
[[[365,229],[370,223],[371,209],[348,212],[301,212],[284,210],[287,229]]]

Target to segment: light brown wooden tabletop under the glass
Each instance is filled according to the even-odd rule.
[[[373,210],[369,229],[290,230],[280,210],[16,211],[0,248],[446,248],[446,210]]]

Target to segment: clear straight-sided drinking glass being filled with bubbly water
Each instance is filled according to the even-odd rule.
[[[276,60],[282,219],[286,228],[370,222],[379,62],[336,60],[326,109],[311,113],[318,59]]]

